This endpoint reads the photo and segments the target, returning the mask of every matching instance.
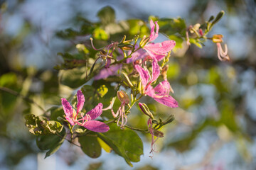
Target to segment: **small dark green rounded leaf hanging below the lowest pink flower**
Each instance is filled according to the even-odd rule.
[[[82,151],[85,152],[91,158],[100,157],[101,147],[100,143],[97,141],[97,137],[91,136],[80,136],[78,138]]]

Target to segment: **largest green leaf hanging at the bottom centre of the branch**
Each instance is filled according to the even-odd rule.
[[[101,140],[107,143],[114,152],[125,159],[129,166],[131,162],[139,162],[140,155],[143,154],[143,143],[136,132],[130,129],[120,129],[117,125],[110,125],[110,130],[99,133]]]

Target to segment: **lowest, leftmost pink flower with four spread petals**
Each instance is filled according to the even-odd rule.
[[[102,103],[99,103],[95,108],[86,114],[80,113],[82,107],[85,103],[85,96],[83,96],[82,91],[78,91],[78,104],[77,110],[70,105],[70,103],[65,98],[61,98],[61,103],[63,105],[63,110],[65,113],[65,118],[71,125],[80,125],[88,130],[93,132],[107,132],[110,130],[109,126],[105,123],[95,120],[95,118],[99,117],[102,114]],[[80,118],[78,119],[78,114],[80,113]]]

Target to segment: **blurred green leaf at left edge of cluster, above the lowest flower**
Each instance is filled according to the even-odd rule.
[[[78,88],[87,82],[86,78],[86,68],[74,68],[68,70],[60,70],[60,84],[69,86],[70,88]]]

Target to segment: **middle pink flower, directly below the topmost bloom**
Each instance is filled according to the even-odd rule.
[[[134,67],[137,72],[139,72],[139,77],[142,79],[142,94],[148,95],[154,98],[155,101],[170,108],[178,107],[178,102],[169,95],[169,92],[173,92],[173,90],[167,80],[162,81],[155,88],[151,86],[151,83],[156,81],[160,74],[160,68],[156,60],[152,62],[151,77],[149,76],[149,71],[139,66],[139,64],[136,64]]]

